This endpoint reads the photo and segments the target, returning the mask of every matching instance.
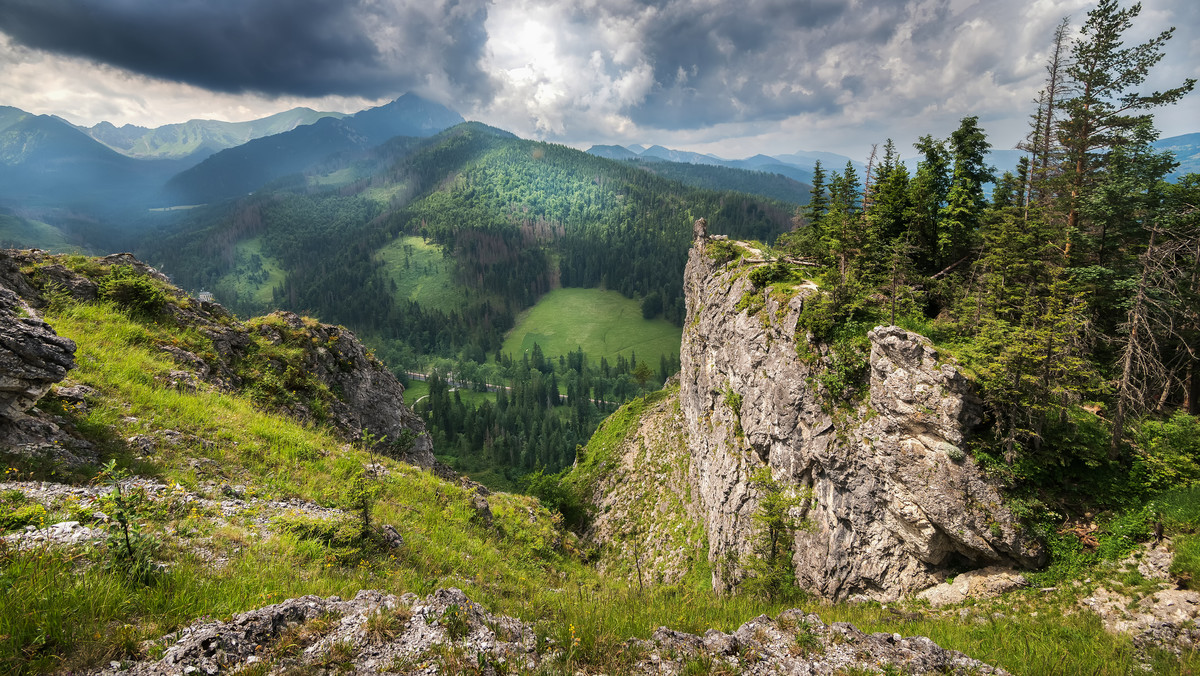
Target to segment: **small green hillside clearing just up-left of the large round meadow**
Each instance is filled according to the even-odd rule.
[[[391,280],[397,300],[415,300],[428,310],[452,312],[466,303],[464,292],[454,282],[454,261],[442,247],[419,237],[401,237],[378,252]]]

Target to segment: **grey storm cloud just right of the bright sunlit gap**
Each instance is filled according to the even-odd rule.
[[[650,17],[632,40],[653,67],[654,88],[629,109],[631,119],[659,128],[701,128],[838,114],[847,97],[880,83],[880,49],[918,11],[925,16],[914,38],[932,43],[949,30],[940,25],[944,1],[617,1],[590,13]],[[596,17],[581,14],[580,20]],[[853,50],[842,56],[841,72],[822,73],[829,54],[846,46]]]

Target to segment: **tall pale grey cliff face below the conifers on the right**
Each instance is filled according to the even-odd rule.
[[[796,335],[816,287],[755,289],[749,269],[718,264],[697,244],[684,282],[679,399],[714,586],[743,575],[758,509],[749,479],[762,466],[812,492],[794,514],[811,528],[796,536],[793,564],[823,597],[892,599],[953,568],[1036,566],[1039,546],[962,451],[979,403],[954,365],[926,339],[878,327],[868,336],[866,400],[834,412],[817,385],[829,349]],[[754,294],[761,310],[740,310]]]

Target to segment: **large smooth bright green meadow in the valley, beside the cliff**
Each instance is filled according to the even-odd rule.
[[[614,291],[559,288],[517,318],[500,348],[520,359],[534,343],[542,353],[558,357],[577,348],[599,363],[616,361],[618,354],[658,367],[662,354],[677,357],[683,330],[666,319],[643,319],[638,301]]]

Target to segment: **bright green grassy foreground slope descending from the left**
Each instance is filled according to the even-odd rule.
[[[178,345],[203,353],[211,348],[196,331],[134,321],[104,304],[67,305],[47,319],[77,341],[78,367],[72,379],[100,394],[88,409],[62,414],[101,444],[106,455],[142,475],[203,492],[205,481],[246,485],[247,498],[296,497],[344,505],[353,477],[368,460],[360,448],[319,427],[263,412],[240,395],[182,391],[161,384],[179,366],[160,348]],[[53,397],[43,406],[50,406]],[[594,471],[612,444],[625,438],[644,402],[618,412],[598,432],[589,454]],[[125,439],[172,429],[194,435],[181,445],[162,445],[151,457],[133,460]],[[200,443],[204,439],[210,443]],[[36,466],[6,456],[13,472],[37,478]],[[439,586],[462,587],[493,610],[538,622],[540,634],[566,645],[574,627],[577,658],[606,670],[620,642],[647,636],[658,626],[703,633],[731,630],[761,612],[803,605],[827,621],[845,620],[862,629],[924,634],[944,647],[1000,664],[1014,674],[1128,674],[1134,664],[1128,638],[1111,636],[1094,616],[1075,612],[1069,586],[1058,593],[1030,590],[998,602],[944,616],[926,612],[902,620],[876,604],[823,606],[816,603],[764,603],[718,598],[700,585],[649,588],[644,593],[598,576],[574,554],[571,538],[560,540],[554,519],[532,498],[488,497],[496,526],[485,527],[468,493],[410,466],[382,459],[377,522],[392,524],[406,537],[395,556],[365,552],[346,564],[319,543],[270,528],[258,537],[253,522],[166,504],[138,520],[163,538],[156,557],[167,569],[155,585],[133,582],[89,558],[100,552],[0,550],[0,670],[64,671],[137,654],[139,642],[209,615],[232,614],[305,593],[350,597],[359,588],[426,593]],[[86,475],[77,480],[85,481]],[[47,522],[65,519],[62,505],[49,505]],[[530,512],[532,510],[532,512]],[[530,514],[535,519],[530,519]],[[556,543],[562,542],[562,545]],[[228,558],[221,567],[202,560],[199,546]],[[697,582],[691,580],[690,582]],[[564,593],[566,592],[566,593]],[[1002,612],[1002,616],[994,614]],[[1037,616],[1032,616],[1037,612]],[[151,654],[154,651],[151,650]],[[1194,672],[1200,660],[1164,660],[1158,672]],[[1190,671],[1189,671],[1190,670]],[[610,672],[611,669],[608,669]]]

